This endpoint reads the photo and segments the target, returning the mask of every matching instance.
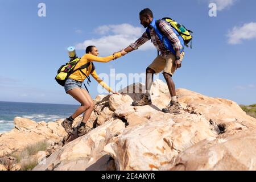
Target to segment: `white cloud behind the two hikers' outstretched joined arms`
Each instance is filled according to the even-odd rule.
[[[134,27],[127,23],[100,26],[94,32],[102,35],[101,38],[85,40],[77,44],[76,48],[85,49],[87,46],[94,45],[99,49],[101,56],[110,55],[134,43],[143,34],[143,31],[141,27]],[[152,48],[154,46],[148,41],[139,50]]]

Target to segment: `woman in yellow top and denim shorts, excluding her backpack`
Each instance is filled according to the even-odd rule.
[[[95,46],[88,46],[86,48],[85,55],[81,57],[79,63],[77,63],[74,70],[76,68],[80,68],[82,65],[86,63],[90,63],[89,66],[87,68],[82,69],[81,71],[77,70],[76,72],[72,73],[68,77],[64,86],[65,92],[81,103],[81,106],[75,111],[75,113],[72,114],[69,118],[65,118],[64,121],[61,123],[61,125],[64,127],[65,131],[68,134],[73,135],[73,129],[72,129],[73,121],[76,117],[78,117],[82,113],[84,113],[84,116],[82,118],[80,125],[77,126],[78,136],[80,137],[82,135],[85,135],[91,130],[89,126],[86,126],[86,122],[88,121],[90,114],[94,109],[94,103],[89,93],[82,88],[82,82],[85,80],[86,77],[88,77],[89,75],[92,75],[92,77],[95,80],[97,80],[101,86],[103,86],[106,90],[108,90],[108,92],[115,93],[108,85],[105,84],[104,81],[101,80],[101,78],[98,77],[92,62],[96,61],[101,63],[107,63],[125,54],[126,52],[122,50],[120,52],[114,53],[112,56],[98,57],[98,49]]]

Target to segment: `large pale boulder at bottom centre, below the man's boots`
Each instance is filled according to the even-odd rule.
[[[158,170],[179,152],[216,135],[203,117],[188,115],[180,123],[154,117],[127,127],[104,151],[115,160],[117,170]]]

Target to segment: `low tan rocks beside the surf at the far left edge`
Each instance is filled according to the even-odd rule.
[[[62,120],[63,121],[63,120]],[[0,137],[0,157],[22,151],[28,145],[44,140],[61,140],[67,133],[58,122],[36,123],[27,118],[16,117],[15,127]]]

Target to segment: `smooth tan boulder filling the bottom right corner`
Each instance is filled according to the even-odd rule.
[[[226,138],[203,140],[181,152],[164,169],[170,170],[256,170],[256,130]]]

